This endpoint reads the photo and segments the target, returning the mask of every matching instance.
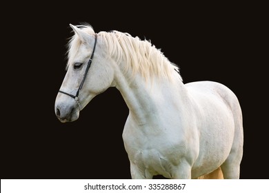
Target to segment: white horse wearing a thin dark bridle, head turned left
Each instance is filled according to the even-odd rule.
[[[239,179],[243,123],[229,88],[183,84],[177,66],[149,41],[70,26],[68,71],[55,101],[61,122],[77,120],[94,96],[116,87],[130,110],[123,141],[132,179],[197,179],[214,171]]]

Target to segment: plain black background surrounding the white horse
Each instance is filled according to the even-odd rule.
[[[262,5],[17,4],[1,26],[1,179],[130,179],[121,134],[128,108],[110,88],[79,120],[60,123],[54,100],[66,73],[69,23],[119,30],[179,65],[183,82],[227,85],[243,111],[241,179],[268,176],[268,80]],[[267,53],[268,54],[268,53]]]

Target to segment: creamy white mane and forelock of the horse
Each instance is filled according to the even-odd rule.
[[[77,26],[89,34],[94,34],[90,25]],[[111,32],[99,32],[98,37],[106,43],[108,54],[121,63],[124,70],[132,70],[132,74],[139,73],[144,79],[152,77],[165,77],[170,80],[179,79],[179,68],[171,63],[161,52],[155,48],[150,41],[141,40],[139,37],[132,37],[128,33],[113,30]],[[81,41],[74,35],[69,41],[68,58],[74,56]],[[98,42],[98,41],[97,41]]]

